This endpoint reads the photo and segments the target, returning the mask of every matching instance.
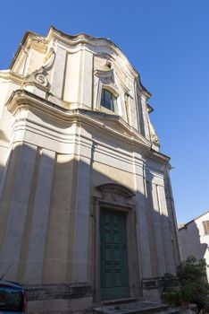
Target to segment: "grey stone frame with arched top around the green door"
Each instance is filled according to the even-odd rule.
[[[102,208],[127,214],[127,251],[130,297],[138,298],[142,295],[138,272],[138,246],[137,246],[137,219],[135,195],[128,188],[118,184],[104,184],[96,188],[97,196],[93,199],[93,300],[101,300],[101,257],[100,257],[100,214]],[[98,193],[98,191],[100,193]]]

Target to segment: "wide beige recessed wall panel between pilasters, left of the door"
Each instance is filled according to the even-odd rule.
[[[46,231],[42,280],[44,283],[66,281],[68,243],[71,226],[72,167],[71,154],[56,154],[53,187]]]

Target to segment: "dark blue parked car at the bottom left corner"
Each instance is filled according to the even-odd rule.
[[[20,283],[0,280],[0,314],[26,313],[25,290]]]

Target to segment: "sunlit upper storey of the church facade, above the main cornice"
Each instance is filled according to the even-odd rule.
[[[9,70],[0,71],[0,89],[5,83],[13,85],[3,97],[4,104],[13,99],[13,92],[25,91],[33,98],[48,100],[61,111],[66,109],[66,115],[81,109],[82,115],[102,123],[106,130],[130,137],[149,147],[156,159],[160,156],[161,161],[169,161],[160,153],[159,139],[149,118],[154,110],[147,103],[151,93],[110,39],[85,33],[72,36],[53,26],[46,36],[27,31]],[[102,102],[104,91],[106,97],[111,94],[114,99],[107,105]]]

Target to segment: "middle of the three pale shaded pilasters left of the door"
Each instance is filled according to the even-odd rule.
[[[43,149],[38,169],[31,230],[29,232],[29,251],[24,276],[25,282],[42,282],[53,174],[54,152]]]

